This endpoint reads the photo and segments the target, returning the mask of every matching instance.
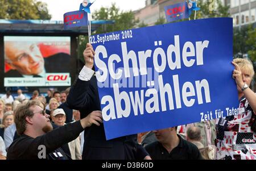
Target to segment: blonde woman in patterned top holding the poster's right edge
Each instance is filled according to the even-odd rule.
[[[256,94],[249,87],[254,77],[253,64],[247,59],[234,59],[232,64],[235,68],[232,77],[236,80],[239,99],[239,108],[235,109],[238,115],[216,119],[217,160],[256,160],[256,153],[253,152],[256,149],[256,134],[252,127]]]

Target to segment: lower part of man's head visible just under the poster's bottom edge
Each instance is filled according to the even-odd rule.
[[[177,128],[176,127],[170,127],[170,128],[165,128],[162,130],[156,130],[153,131],[155,133],[156,139],[162,144],[169,143],[170,137],[173,135],[177,135]]]

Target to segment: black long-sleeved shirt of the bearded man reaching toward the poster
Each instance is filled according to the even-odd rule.
[[[35,160],[39,158],[47,160],[70,159],[60,147],[65,143],[75,140],[83,130],[80,121],[77,121],[56,128],[36,138],[23,134],[10,145],[6,158],[23,160]],[[42,152],[43,148],[40,145],[44,145],[46,157],[42,158],[44,156]]]

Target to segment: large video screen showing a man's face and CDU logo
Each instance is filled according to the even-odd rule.
[[[71,86],[71,37],[4,36],[4,86]]]

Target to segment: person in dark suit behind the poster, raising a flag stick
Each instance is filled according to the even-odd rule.
[[[80,111],[81,118],[91,111],[101,110],[94,70],[94,50],[89,43],[84,51],[85,66],[72,85],[67,103],[71,109]],[[104,127],[92,126],[85,129],[82,159],[151,159],[146,150],[137,143],[137,135],[106,140]]]

